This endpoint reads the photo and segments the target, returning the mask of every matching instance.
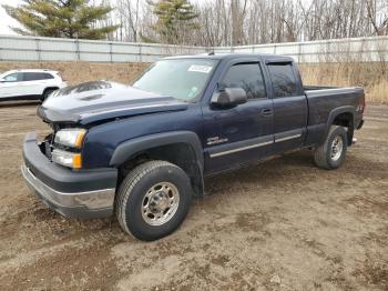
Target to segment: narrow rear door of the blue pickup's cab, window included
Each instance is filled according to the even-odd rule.
[[[274,101],[275,153],[304,143],[308,104],[300,76],[292,61],[267,61]]]

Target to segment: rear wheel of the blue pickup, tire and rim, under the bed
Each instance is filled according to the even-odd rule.
[[[337,169],[345,160],[347,144],[348,139],[345,128],[331,126],[325,143],[315,150],[315,164],[326,170]]]

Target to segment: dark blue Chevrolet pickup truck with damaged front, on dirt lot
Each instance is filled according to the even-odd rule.
[[[96,81],[38,109],[52,133],[28,133],[27,184],[68,217],[115,214],[156,240],[184,220],[204,177],[296,149],[338,168],[363,126],[361,88],[304,87],[293,59],[206,54],[157,61],[132,87]]]

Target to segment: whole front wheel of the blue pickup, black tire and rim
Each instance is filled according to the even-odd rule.
[[[190,179],[181,168],[165,161],[149,161],[133,169],[122,181],[116,193],[115,214],[126,233],[153,241],[181,225],[191,201]]]

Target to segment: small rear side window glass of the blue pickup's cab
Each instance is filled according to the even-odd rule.
[[[268,64],[274,97],[298,96],[297,81],[290,63]]]

